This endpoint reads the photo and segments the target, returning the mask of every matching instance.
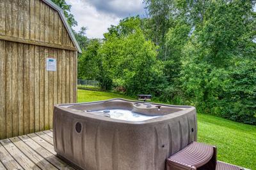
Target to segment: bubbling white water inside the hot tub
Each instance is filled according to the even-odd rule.
[[[106,115],[109,115],[111,118],[115,118],[118,120],[127,120],[131,122],[141,122],[145,120],[150,120],[152,118],[160,117],[160,116],[143,115],[140,113],[135,113],[131,110],[121,110],[121,109],[97,110],[97,112],[104,112],[106,113]]]

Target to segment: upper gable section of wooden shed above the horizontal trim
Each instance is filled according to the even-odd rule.
[[[0,0],[0,39],[77,50],[58,11],[41,0]]]

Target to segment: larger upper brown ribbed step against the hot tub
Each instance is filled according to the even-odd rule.
[[[214,170],[216,169],[216,147],[198,142],[190,143],[169,157],[166,166],[167,170]]]

